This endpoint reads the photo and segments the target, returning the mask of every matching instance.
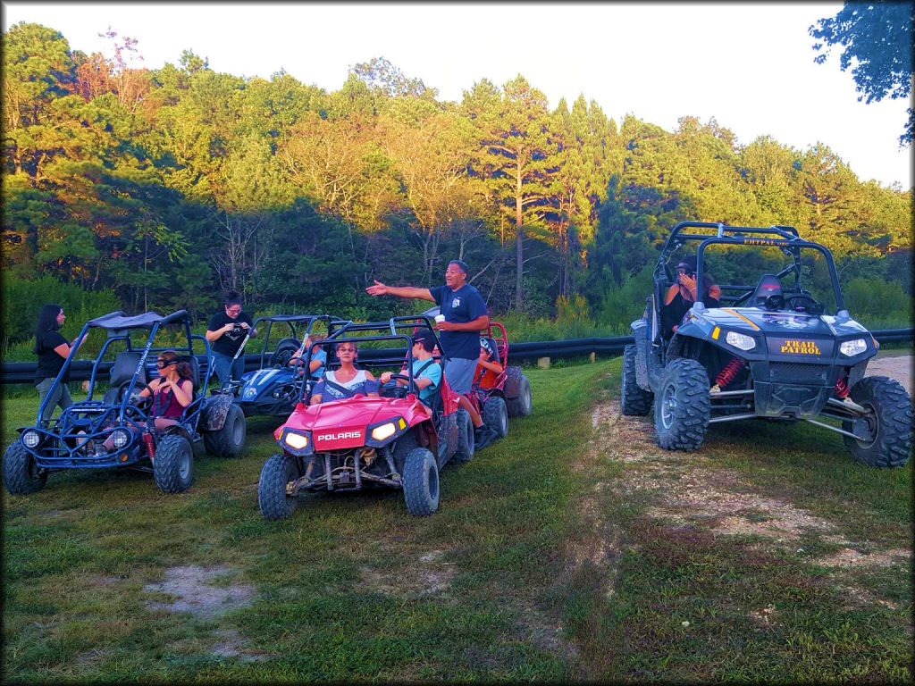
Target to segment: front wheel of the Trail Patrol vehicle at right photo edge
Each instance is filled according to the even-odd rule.
[[[865,408],[867,415],[855,422],[843,422],[842,428],[857,433],[856,424],[861,422],[874,436],[872,441],[843,436],[855,461],[877,467],[906,465],[912,445],[912,402],[902,384],[885,376],[869,376],[855,384],[851,399]]]

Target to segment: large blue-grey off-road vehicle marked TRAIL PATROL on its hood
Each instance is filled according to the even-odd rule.
[[[675,267],[693,261],[694,283],[727,277],[665,324]],[[634,345],[623,355],[622,412],[654,406],[658,445],[694,450],[710,424],[804,420],[842,434],[861,464],[903,466],[912,438],[911,398],[898,381],[866,376],[877,340],[845,309],[832,253],[789,226],[732,227],[684,221],[671,230]]]

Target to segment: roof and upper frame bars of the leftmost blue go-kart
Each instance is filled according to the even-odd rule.
[[[156,338],[156,333],[159,328],[167,326],[169,324],[178,324],[183,325],[185,329],[185,334],[187,336],[187,347],[176,347],[168,346],[167,348],[153,348],[152,343],[154,338]],[[111,312],[107,315],[97,316],[94,319],[86,322],[77,336],[77,339],[80,340],[85,338],[89,333],[91,328],[101,328],[107,332],[107,338],[105,342],[102,343],[102,349],[99,351],[99,354],[92,361],[92,374],[89,378],[89,398],[92,398],[92,391],[95,389],[96,377],[98,376],[99,366],[104,357],[105,352],[108,350],[109,346],[115,341],[122,340],[127,344],[127,351],[137,351],[140,353],[140,361],[137,364],[136,369],[134,370],[134,376],[131,380],[129,389],[133,390],[136,381],[139,378],[139,372],[145,367],[145,361],[149,357],[150,352],[162,352],[169,349],[175,349],[178,352],[187,351],[188,356],[194,355],[194,340],[200,340],[203,342],[205,349],[206,359],[210,359],[210,341],[205,337],[199,336],[198,334],[191,334],[190,332],[190,316],[188,316],[187,310],[176,310],[170,315],[162,316],[157,312],[150,311],[144,312],[141,315],[127,315],[123,311],[118,310],[116,312]],[[145,345],[142,349],[133,348],[132,341],[130,339],[130,331],[137,329],[149,329],[149,334],[146,336]],[[77,347],[70,348],[70,354],[67,356],[67,359],[64,360],[63,366],[60,368],[57,377],[54,379],[51,388],[56,388],[61,383],[61,379],[67,374],[70,370],[70,365],[72,364],[73,358],[76,357],[78,351]],[[44,400],[38,403],[38,413],[36,414],[35,423],[36,425],[41,423],[41,416],[44,412],[45,405],[48,404],[48,400],[54,396],[54,393],[48,392]],[[121,403],[121,413],[124,413],[124,407],[129,404],[129,393],[124,394],[124,402]]]

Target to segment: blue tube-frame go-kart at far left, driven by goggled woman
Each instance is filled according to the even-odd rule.
[[[165,327],[172,330],[166,333]],[[206,398],[199,392],[199,369],[201,362],[209,363],[210,345],[206,338],[190,333],[185,310],[167,316],[113,312],[86,323],[80,338],[93,328],[105,331],[107,338],[92,360],[86,399],[74,402],[56,419],[43,421],[42,412],[53,394],[48,393],[38,406],[35,424],[18,429],[18,438],[6,448],[2,472],[7,491],[35,493],[45,487],[49,474],[65,469],[132,469],[151,473],[163,492],[178,493],[187,490],[194,477],[193,444],[202,440],[207,451],[217,456],[241,454],[244,415],[230,398]],[[182,344],[154,347],[160,333],[165,336],[159,338],[174,339],[175,328],[181,329]],[[142,345],[135,345],[141,341]],[[202,341],[202,355],[195,355],[195,341]],[[159,431],[150,415],[152,399],[138,393],[155,378],[157,353],[167,349],[190,364],[194,398],[177,424]],[[67,378],[76,352],[70,350],[51,391]],[[112,445],[110,450],[106,442]]]

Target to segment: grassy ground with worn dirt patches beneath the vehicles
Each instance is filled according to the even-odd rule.
[[[177,496],[4,492],[3,681],[910,681],[911,466],[806,423],[666,453],[619,362],[528,370],[533,414],[427,519],[378,491],[263,520],[267,419]]]

